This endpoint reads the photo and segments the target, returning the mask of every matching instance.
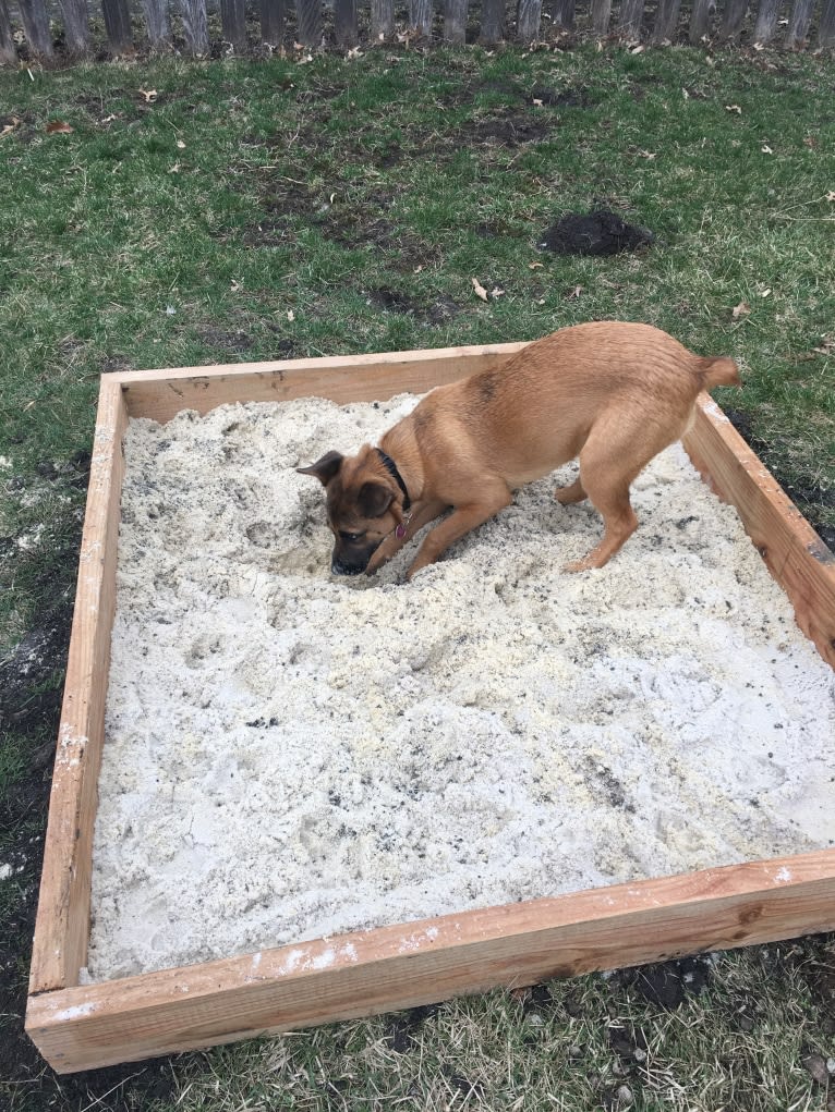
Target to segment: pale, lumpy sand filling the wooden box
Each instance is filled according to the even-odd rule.
[[[331,576],[294,468],[413,405],[130,423],[90,979],[834,843],[835,678],[680,446],[600,570],[569,467]]]

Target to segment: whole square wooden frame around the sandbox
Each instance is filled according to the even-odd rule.
[[[835,929],[835,850],[488,907],[258,954],[79,984],[105,735],[122,437],[225,403],[337,403],[423,393],[524,344],[105,375],[49,810],[26,1029],[59,1072]],[[835,559],[719,407],[703,395],[685,447],[733,503],[797,624],[835,666]],[[323,573],[324,574],[324,573]]]

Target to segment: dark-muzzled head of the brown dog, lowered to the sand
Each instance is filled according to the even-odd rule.
[[[346,457],[327,451],[299,475],[314,475],[327,495],[327,525],[336,542],[331,570],[360,575],[385,537],[403,522],[402,492],[379,454],[364,447]]]

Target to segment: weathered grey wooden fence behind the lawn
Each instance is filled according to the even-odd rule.
[[[91,33],[88,0],[57,2],[60,19],[52,26],[47,0],[17,0],[28,57],[48,61],[57,49],[65,57],[90,53],[97,36]],[[209,53],[206,0],[139,0],[140,10],[132,12],[129,0],[100,2],[110,54],[173,47],[196,57]],[[515,0],[512,12],[508,0],[435,0],[435,10],[433,0],[404,0],[402,10],[400,2],[395,10],[395,0],[370,0],[370,9],[360,10],[357,0],[255,0],[257,10],[248,10],[246,0],[219,0],[219,29],[213,36],[219,34],[226,49],[237,54],[294,42],[314,48],[325,41],[352,49],[361,39],[373,44],[396,33],[410,41],[434,34],[448,43],[473,37],[484,44],[531,43],[574,30],[654,44],[718,39],[786,49],[835,47],[835,0],[752,0],[750,10],[748,0],[691,0],[684,11],[681,0],[657,0],[651,13],[645,11],[645,0],[619,0],[615,12],[612,0],[588,0],[590,7],[583,10],[576,10],[576,0],[546,0],[544,8],[543,0]],[[0,0],[0,63],[18,60],[20,31],[16,34],[14,22],[10,0]]]

